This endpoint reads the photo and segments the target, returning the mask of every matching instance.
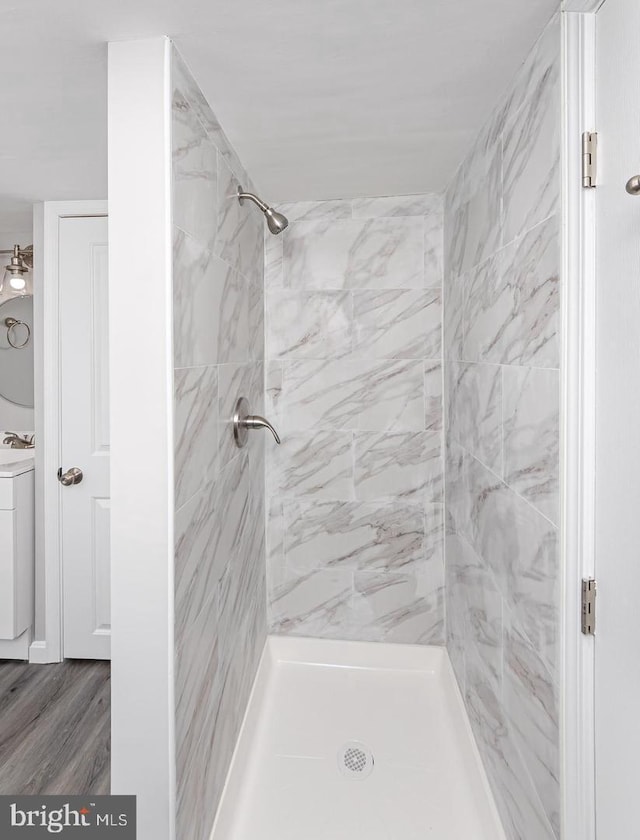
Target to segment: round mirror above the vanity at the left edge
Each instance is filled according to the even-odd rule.
[[[0,396],[33,408],[33,297],[0,305]]]

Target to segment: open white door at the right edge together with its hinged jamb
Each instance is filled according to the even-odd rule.
[[[639,23],[633,0],[565,14],[566,840],[636,833],[640,200],[627,186],[633,193],[640,172]],[[581,582],[590,579],[595,622],[583,623]]]

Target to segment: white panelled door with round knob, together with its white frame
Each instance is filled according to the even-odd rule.
[[[36,212],[36,609],[44,641],[32,645],[32,662],[110,655],[106,213],[105,201],[46,202]]]

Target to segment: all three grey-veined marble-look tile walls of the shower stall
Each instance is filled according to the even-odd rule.
[[[282,203],[265,239],[173,52],[180,838],[269,632],[446,644],[507,836],[560,836],[559,59],[555,18],[444,195]],[[234,448],[241,395],[281,447]]]

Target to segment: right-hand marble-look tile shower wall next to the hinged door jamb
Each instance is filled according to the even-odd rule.
[[[560,837],[560,43],[444,205],[447,645],[509,840]]]

